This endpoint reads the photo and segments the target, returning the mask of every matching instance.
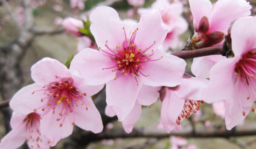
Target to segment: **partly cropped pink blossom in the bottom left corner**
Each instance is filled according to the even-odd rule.
[[[28,115],[13,113],[12,131],[0,143],[1,149],[16,149],[26,140],[32,149],[49,149],[51,141],[40,132],[40,115],[36,112]]]

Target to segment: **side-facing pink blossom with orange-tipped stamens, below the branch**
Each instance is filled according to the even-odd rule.
[[[192,112],[200,108],[200,92],[207,85],[207,80],[199,77],[183,75],[182,83],[175,87],[162,87],[160,99],[162,100],[161,121],[166,132],[180,131],[181,118],[188,118]]]

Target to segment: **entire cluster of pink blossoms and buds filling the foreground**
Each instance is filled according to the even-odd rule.
[[[136,7],[144,4],[144,0],[128,2]],[[79,9],[82,4],[82,0],[71,3]],[[107,6],[97,7],[90,20],[67,18],[63,25],[80,37],[80,52],[70,66],[49,57],[32,66],[35,83],[12,97],[12,131],[0,148],[15,149],[27,141],[30,148],[49,149],[71,135],[73,125],[102,132],[101,114],[91,96],[104,86],[105,115],[116,115],[127,133],[139,120],[142,106],[158,98],[161,123],[168,133],[180,131],[181,120],[197,113],[202,103],[219,100],[221,112],[217,112],[225,118],[227,129],[239,124],[256,103],[256,17],[247,17],[251,6],[245,0],[218,0],[214,6],[209,0],[189,0],[189,4],[195,34],[184,50],[224,43],[231,55],[195,58],[196,77],[192,77],[185,73],[185,60],[160,50],[177,48],[180,34],[188,28],[179,2],[157,0],[150,9],[138,9],[139,23],[121,21]],[[181,142],[172,143],[172,148],[196,148]]]

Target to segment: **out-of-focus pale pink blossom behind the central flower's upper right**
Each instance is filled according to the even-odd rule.
[[[168,34],[162,44],[164,52],[169,48],[180,48],[182,45],[180,44],[182,42],[180,35],[188,29],[188,23],[181,15],[183,4],[181,2],[169,3],[168,0],[156,0],[151,8],[138,9],[140,15],[159,11],[161,11],[163,23],[168,27]]]

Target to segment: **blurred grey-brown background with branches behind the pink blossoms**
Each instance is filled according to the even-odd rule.
[[[247,1],[253,6],[254,16],[256,0]],[[138,22],[145,11],[154,11],[154,3],[155,0],[0,0],[0,102],[10,100],[20,88],[33,83],[30,68],[43,57],[65,63],[71,54],[76,55],[81,49],[97,49],[92,37],[84,39],[84,35],[67,32],[65,18],[86,21],[97,6],[111,6],[120,19]],[[170,12],[186,21],[186,25],[173,21],[176,26],[169,31],[168,42],[175,43],[160,47],[171,54],[183,48],[194,28],[188,0],[169,0],[169,3],[173,4]],[[176,10],[177,3],[182,8]],[[166,16],[164,23],[173,17]],[[192,59],[186,62],[186,73],[192,75]],[[256,113],[250,112],[242,123],[228,131],[223,120],[223,102],[201,104],[199,112],[181,122],[180,132],[168,134],[160,123],[161,101],[158,100],[143,107],[133,132],[127,134],[116,117],[105,116],[105,90],[93,100],[102,115],[103,132],[95,135],[75,126],[73,134],[52,149],[256,149]],[[0,111],[1,140],[11,130],[12,110],[0,106]],[[20,149],[27,149],[26,142]]]

